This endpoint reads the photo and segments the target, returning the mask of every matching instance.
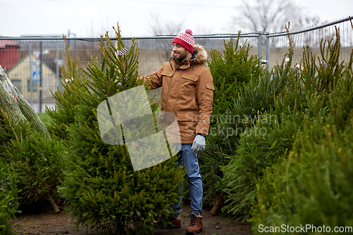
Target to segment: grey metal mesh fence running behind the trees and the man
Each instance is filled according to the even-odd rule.
[[[294,42],[294,63],[300,64],[303,46],[308,45],[314,54],[320,53],[321,39],[335,37],[335,27],[340,28],[341,52],[340,59],[347,61],[353,48],[352,23],[349,18],[337,20],[324,25],[289,32]],[[157,70],[164,61],[169,61],[172,52],[172,39],[175,36],[135,37],[140,47],[140,76],[146,76]],[[201,44],[208,54],[212,50],[223,52],[224,42],[233,35],[195,35],[196,44]],[[116,38],[110,38],[114,43]],[[132,37],[124,37],[126,48],[131,46]],[[44,112],[45,107],[52,108],[55,100],[52,92],[61,90],[59,67],[66,65],[66,46],[68,53],[85,69],[92,59],[100,61],[98,42],[101,38],[66,37],[0,37],[0,65],[6,71],[23,96],[30,102],[36,112]],[[263,33],[254,32],[239,35],[239,45],[249,44],[250,55],[263,59],[268,68],[281,63],[289,48],[287,32]],[[235,43],[234,43],[235,44]],[[210,59],[210,56],[208,57]],[[76,62],[77,63],[77,62]],[[158,94],[158,91],[154,94]]]

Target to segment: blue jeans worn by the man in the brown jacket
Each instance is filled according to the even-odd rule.
[[[202,177],[200,174],[200,168],[198,167],[198,158],[197,155],[191,151],[191,144],[181,144],[181,150],[178,152],[178,165],[183,164],[183,167],[186,167],[186,180],[189,182],[189,191],[191,199],[191,211],[190,215],[196,214],[201,215],[202,210]],[[183,186],[181,185],[181,190]],[[173,205],[175,217],[178,217],[181,212],[181,200],[179,203]]]

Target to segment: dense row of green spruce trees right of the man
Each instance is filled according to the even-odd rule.
[[[336,29],[334,39],[321,40],[320,54],[304,47],[297,66],[289,37],[282,64],[270,73],[254,69],[248,80],[234,72],[230,82],[228,71],[249,64],[249,56],[235,61],[245,47],[229,43],[224,55],[211,54],[215,90],[237,81],[240,88],[229,104],[215,97],[217,135],[200,155],[204,199],[251,222],[254,234],[290,234],[306,224],[304,234],[352,231],[353,51],[339,61],[340,46]]]

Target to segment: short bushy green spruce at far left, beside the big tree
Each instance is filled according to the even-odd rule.
[[[64,176],[63,150],[59,140],[49,140],[37,132],[21,135],[8,144],[3,156],[18,175],[19,203],[23,208],[49,200],[59,212],[55,201]]]

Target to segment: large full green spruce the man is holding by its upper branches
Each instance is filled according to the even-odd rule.
[[[71,123],[68,122],[64,127],[68,131],[68,152],[65,156],[67,164],[63,192],[71,203],[71,215],[76,217],[78,225],[88,225],[111,234],[151,234],[155,227],[153,221],[168,217],[171,205],[181,196],[179,187],[185,172],[176,167],[176,156],[148,168],[139,163],[140,169],[134,169],[136,165],[131,162],[128,139],[147,129],[145,121],[130,122],[130,126],[136,127],[138,131],[124,129],[122,140],[125,142],[122,144],[109,144],[109,141],[114,140],[114,134],[120,133],[122,125],[126,123],[107,131],[102,140],[100,121],[109,122],[110,116],[119,119],[114,112],[112,98],[143,83],[143,80],[138,79],[139,49],[136,41],[132,40],[131,48],[127,51],[121,40],[119,26],[116,36],[116,46],[108,35],[102,37],[102,63],[92,59],[88,71],[78,69],[80,75],[76,75],[76,78],[79,76],[87,81],[80,85],[80,88],[85,89],[71,89],[71,86],[78,84],[75,78],[71,80],[73,83],[67,83],[70,91],[66,94],[71,92],[72,97],[80,97],[75,106],[61,105],[55,111],[56,114],[51,115],[53,119],[63,119],[66,112],[73,114]],[[64,103],[61,99],[66,97],[56,95],[57,103]],[[108,100],[110,106],[107,105]],[[100,105],[105,107],[104,104],[110,114],[107,120],[99,112]],[[148,104],[152,112],[157,112],[158,106],[152,99],[148,99]],[[154,120],[152,116],[153,123]],[[53,130],[59,128],[62,126],[54,126]],[[143,144],[152,146],[153,140],[143,140]],[[159,147],[152,151],[158,152]],[[136,153],[142,159],[145,151],[136,148]]]

